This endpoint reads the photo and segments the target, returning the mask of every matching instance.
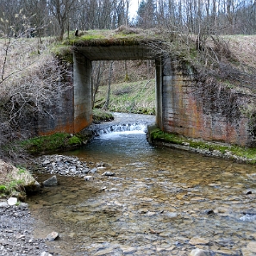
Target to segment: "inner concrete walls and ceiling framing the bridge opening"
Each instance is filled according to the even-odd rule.
[[[77,133],[92,122],[92,60],[135,60],[155,59],[156,61],[156,113],[161,126],[161,61],[146,46],[76,47],[73,53],[74,81],[74,132]]]

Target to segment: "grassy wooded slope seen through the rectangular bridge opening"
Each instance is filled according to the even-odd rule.
[[[155,60],[92,61],[92,107],[156,114]]]

